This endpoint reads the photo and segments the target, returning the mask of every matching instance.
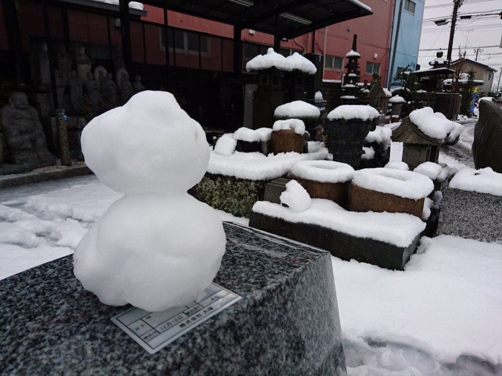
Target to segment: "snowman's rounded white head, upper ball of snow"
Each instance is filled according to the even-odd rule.
[[[142,91],[95,117],[81,143],[99,180],[125,194],[186,192],[209,160],[202,127],[165,91]]]

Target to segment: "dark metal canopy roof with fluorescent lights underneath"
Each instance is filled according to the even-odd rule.
[[[328,25],[371,15],[371,9],[357,0],[142,0],[158,8],[295,38]]]

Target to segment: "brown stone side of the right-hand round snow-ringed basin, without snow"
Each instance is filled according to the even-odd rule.
[[[376,213],[408,213],[422,218],[425,199],[414,200],[360,187],[350,186],[349,211]]]

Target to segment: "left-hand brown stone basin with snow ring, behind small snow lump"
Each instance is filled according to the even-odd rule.
[[[348,207],[348,193],[354,169],[331,160],[304,160],[295,163],[291,178],[297,180],[312,199],[327,199]]]

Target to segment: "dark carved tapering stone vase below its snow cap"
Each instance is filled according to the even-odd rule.
[[[375,127],[376,123],[372,120],[326,119],[323,128],[333,160],[350,164],[357,169],[361,162],[364,139]]]

